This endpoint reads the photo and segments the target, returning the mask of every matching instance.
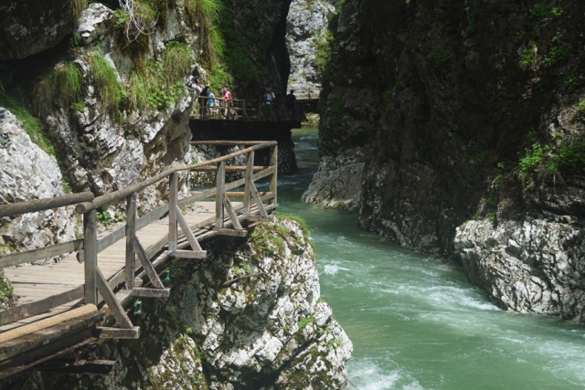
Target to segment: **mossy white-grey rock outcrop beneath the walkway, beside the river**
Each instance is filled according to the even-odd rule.
[[[35,374],[33,388],[345,388],[352,343],[320,299],[298,223],[272,217],[247,243],[221,240],[208,253],[204,263],[175,261],[165,308],[143,300],[144,312],[130,313],[140,339],[101,344],[96,356],[117,360],[116,374]]]

